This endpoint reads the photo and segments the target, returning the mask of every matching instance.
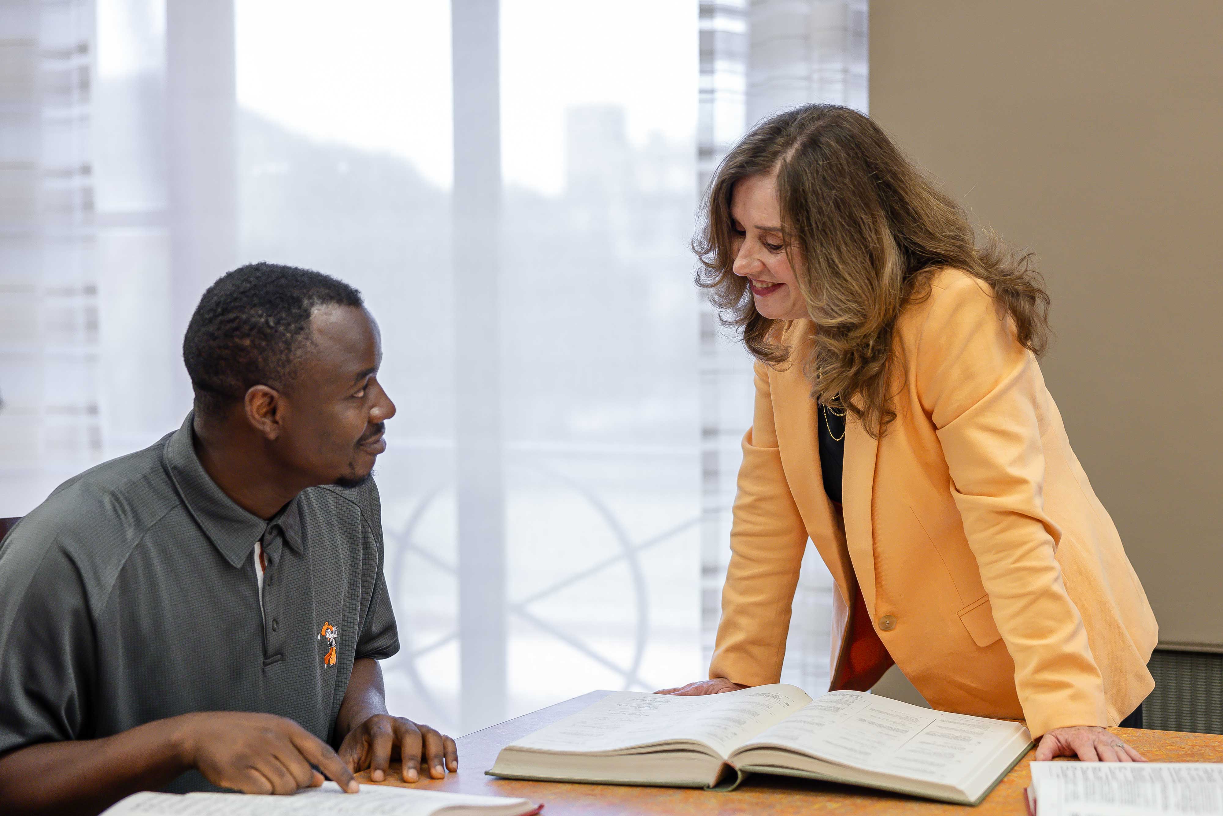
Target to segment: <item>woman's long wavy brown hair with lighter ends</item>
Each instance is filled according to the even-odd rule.
[[[840,105],[804,105],[757,125],[723,159],[692,242],[697,284],[756,358],[779,366],[790,350],[780,321],[756,311],[731,270],[735,182],[777,175],[786,257],[816,324],[804,372],[811,396],[844,407],[878,438],[895,420],[889,382],[901,311],[929,295],[942,267],[989,284],[1000,316],[1033,354],[1048,340],[1049,296],[1031,253],[993,234],[978,241],[964,209],[915,168],[870,117]]]

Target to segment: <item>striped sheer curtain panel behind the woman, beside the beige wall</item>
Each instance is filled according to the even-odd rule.
[[[726,150],[766,116],[811,102],[867,110],[866,0],[701,0],[701,128],[704,190]],[[730,551],[730,506],[751,425],[751,360],[708,307],[701,311],[701,642],[713,652]],[[781,679],[826,689],[832,576],[808,547],[794,597]]]

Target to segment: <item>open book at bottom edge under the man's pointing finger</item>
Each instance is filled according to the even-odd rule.
[[[470,796],[440,790],[413,790],[389,785],[361,785],[360,793],[344,793],[334,782],[306,788],[292,796],[260,796],[240,793],[138,793],[102,816],[306,816],[307,814],[351,814],[351,816],[531,816],[541,805],[508,796]]]

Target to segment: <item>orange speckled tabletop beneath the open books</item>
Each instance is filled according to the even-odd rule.
[[[554,782],[520,782],[498,779],[484,774],[493,767],[497,754],[516,739],[566,717],[596,700],[610,694],[592,691],[548,708],[510,719],[499,725],[460,736],[459,772],[445,779],[418,783],[421,787],[454,793],[483,794],[487,796],[525,796],[544,803],[544,816],[610,816],[612,814],[717,814],[717,815],[775,815],[791,814],[972,814],[996,816],[999,814],[1026,814],[1024,788],[1031,781],[1027,770],[1032,752],[1015,766],[993,793],[977,807],[947,805],[807,779],[753,774],[736,790],[714,793],[687,788],[635,788],[627,785],[561,784]],[[1216,734],[1183,734],[1179,732],[1110,729],[1136,747],[1152,762],[1223,762],[1223,736]],[[369,783],[369,773],[357,777]],[[391,768],[390,781],[384,784],[404,784],[399,779],[399,767]]]

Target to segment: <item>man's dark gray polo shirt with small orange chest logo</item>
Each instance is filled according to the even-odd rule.
[[[191,426],[65,482],[0,544],[0,752],[193,711],[280,714],[335,745],[353,659],[399,651],[373,481],[264,521],[204,472]]]

